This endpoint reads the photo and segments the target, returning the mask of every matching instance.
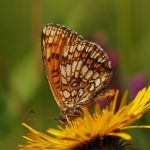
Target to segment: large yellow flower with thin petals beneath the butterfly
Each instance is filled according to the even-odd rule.
[[[103,150],[123,149],[120,139],[130,140],[131,135],[125,133],[131,128],[150,128],[149,125],[129,126],[150,110],[150,87],[144,88],[127,104],[127,92],[118,105],[118,91],[109,106],[100,108],[90,114],[87,108],[83,109],[83,117],[79,117],[65,127],[49,128],[49,134],[38,132],[27,124],[23,125],[30,130],[24,138],[27,145],[19,145],[20,150],[83,150],[101,147]]]

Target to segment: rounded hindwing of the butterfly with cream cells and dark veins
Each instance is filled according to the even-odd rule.
[[[67,107],[83,105],[104,88],[111,76],[105,52],[95,43],[80,40],[68,45],[60,64],[62,100]]]

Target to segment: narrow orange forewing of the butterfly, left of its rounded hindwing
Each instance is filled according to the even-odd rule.
[[[53,96],[61,109],[64,108],[61,95],[60,62],[64,48],[72,42],[80,40],[77,33],[64,26],[49,24],[42,30],[42,57],[46,76]]]

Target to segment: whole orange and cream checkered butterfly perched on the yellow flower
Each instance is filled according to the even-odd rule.
[[[66,118],[78,116],[84,106],[114,94],[104,90],[112,68],[99,45],[59,24],[43,28],[41,45],[51,91]]]

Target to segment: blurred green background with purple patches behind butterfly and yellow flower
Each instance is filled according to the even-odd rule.
[[[47,23],[100,43],[112,59],[114,87],[132,96],[149,85],[149,0],[5,0],[0,6],[0,150],[25,143],[22,122],[40,131],[56,126],[52,116],[60,112],[41,59],[40,32]],[[150,115],[136,124],[150,124]],[[131,132],[135,148],[150,149],[149,130]]]

